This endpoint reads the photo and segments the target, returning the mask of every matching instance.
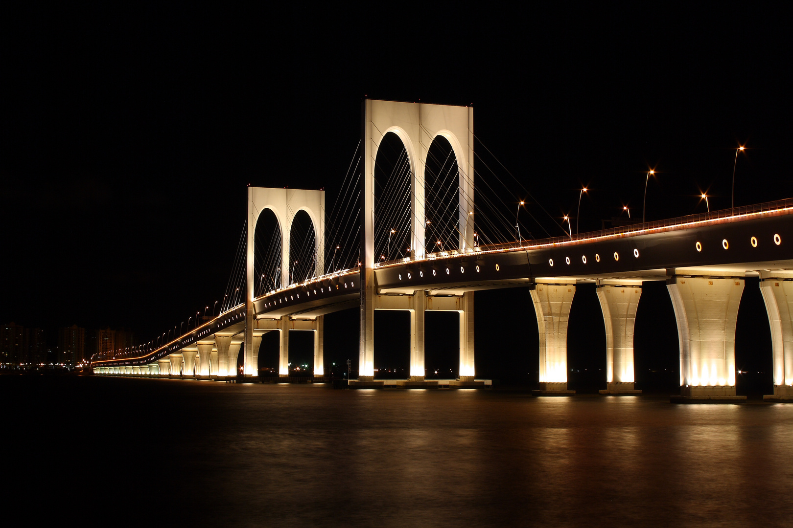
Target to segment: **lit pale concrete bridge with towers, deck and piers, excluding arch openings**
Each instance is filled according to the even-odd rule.
[[[367,145],[385,131],[397,131],[408,145],[412,134],[445,135],[458,166],[473,174],[473,113],[467,107],[366,101]],[[409,107],[409,108],[408,108]],[[419,111],[416,117],[412,112]],[[433,114],[435,112],[435,114]],[[422,121],[423,120],[423,121]],[[414,122],[423,123],[411,131]],[[379,126],[377,126],[379,123]],[[425,127],[426,125],[426,127]],[[416,127],[414,127],[416,128]],[[379,138],[374,138],[376,129]],[[473,134],[473,132],[471,132]],[[461,141],[464,138],[467,140]],[[408,151],[412,150],[408,148]],[[408,152],[416,156],[416,152]],[[374,260],[374,160],[365,154],[361,262],[354,268],[324,272],[324,192],[249,188],[249,226],[271,210],[281,226],[293,211],[308,211],[316,230],[313,278],[281,283],[255,295],[254,232],[248,230],[247,298],[191,332],[139,357],[103,359],[98,374],[236,377],[240,350],[243,375],[258,374],[262,335],[278,331],[279,374],[289,376],[289,330],[315,332],[314,375],[324,375],[324,315],[357,307],[360,312],[358,386],[374,380],[374,310],[410,312],[410,378],[423,386],[424,315],[427,310],[459,314],[459,377],[454,386],[477,386],[474,367],[474,294],[479,290],[529,287],[539,330],[539,373],[543,394],[573,393],[567,387],[567,332],[577,284],[596,283],[606,330],[607,374],[602,393],[634,394],[634,319],[645,281],[665,281],[674,308],[680,344],[680,397],[688,401],[734,401],[735,326],[745,277],[760,278],[772,332],[774,393],[767,399],[793,401],[793,199],[714,211],[703,215],[646,222],[586,234],[543,240],[477,245],[473,224],[459,200],[458,249],[416,250],[399,260]],[[413,178],[423,176],[420,170]],[[462,189],[463,184],[460,185]],[[423,245],[423,206],[413,195],[412,247]],[[465,199],[473,199],[473,191]],[[371,213],[371,214],[370,214]],[[427,222],[429,223],[429,222]],[[285,234],[286,233],[286,234]],[[282,229],[284,241],[288,229]],[[321,245],[321,247],[320,247]],[[290,264],[287,243],[279,260]],[[281,268],[279,268],[281,269]],[[528,299],[527,299],[528,302]]]

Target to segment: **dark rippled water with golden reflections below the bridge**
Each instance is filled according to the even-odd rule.
[[[4,496],[32,518],[548,527],[793,519],[793,405],[117,378],[6,378],[0,389],[10,425]]]

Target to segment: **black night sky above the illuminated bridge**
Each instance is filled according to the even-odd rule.
[[[406,7],[4,5],[0,320],[147,340],[212,305],[247,184],[335,196],[365,96],[473,104],[560,222],[591,188],[581,231],[641,215],[648,168],[649,220],[730,207],[738,144],[736,205],[793,196],[781,7]]]

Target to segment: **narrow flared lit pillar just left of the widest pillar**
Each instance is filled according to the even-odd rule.
[[[641,394],[634,389],[634,322],[641,281],[597,280],[606,329],[606,389],[601,394]]]

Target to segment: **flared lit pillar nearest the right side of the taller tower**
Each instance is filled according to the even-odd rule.
[[[539,331],[540,391],[573,393],[567,389],[567,324],[576,285],[536,283],[530,293]]]

